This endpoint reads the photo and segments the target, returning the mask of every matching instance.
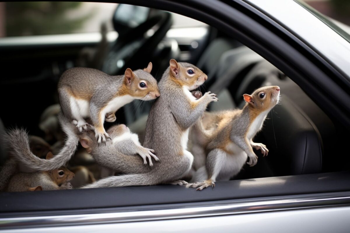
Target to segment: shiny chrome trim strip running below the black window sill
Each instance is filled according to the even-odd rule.
[[[229,214],[296,210],[350,205],[350,191],[258,199],[239,199],[181,205],[140,206],[137,209],[93,210],[88,214],[59,215],[40,212],[37,216],[0,218],[0,230],[10,228],[75,226],[126,223]],[[21,213],[23,214],[23,213]]]

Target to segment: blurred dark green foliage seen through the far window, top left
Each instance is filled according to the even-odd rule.
[[[6,2],[6,36],[70,33],[94,12],[71,19],[66,12],[82,2]]]

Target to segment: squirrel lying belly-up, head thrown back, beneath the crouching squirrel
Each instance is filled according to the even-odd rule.
[[[142,163],[147,164],[146,158],[148,158],[149,166],[153,166],[151,158],[159,161],[154,150],[142,147],[137,134],[131,133],[126,125],[113,125],[107,130],[107,133],[112,140],[101,145],[94,140],[93,131],[85,131],[80,136],[80,144],[98,164],[116,173],[137,173],[140,170],[148,170],[148,166],[142,166]]]

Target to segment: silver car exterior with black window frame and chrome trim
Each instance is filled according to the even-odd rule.
[[[349,161],[339,147],[349,139],[350,66],[346,58],[350,57],[350,46],[307,9],[292,0],[271,4],[240,0],[128,3],[191,16],[225,31],[260,54],[297,83],[332,119],[339,132],[339,144],[332,158]],[[289,24],[291,8],[299,13],[299,23],[312,23]],[[298,34],[295,27],[306,31],[313,27],[313,35],[327,30],[324,41],[328,40],[328,44],[314,43],[317,38]],[[346,232],[349,178],[348,169],[339,169],[217,182],[214,190],[201,192],[156,185],[1,193],[0,227],[4,232]]]

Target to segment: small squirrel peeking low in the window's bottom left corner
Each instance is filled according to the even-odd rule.
[[[49,152],[46,159],[52,158]],[[69,181],[74,177],[74,173],[65,167],[50,171],[36,173],[19,173],[14,175],[7,186],[8,192],[41,191],[71,189]]]

